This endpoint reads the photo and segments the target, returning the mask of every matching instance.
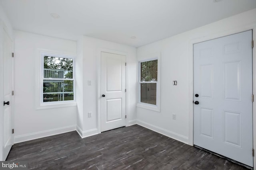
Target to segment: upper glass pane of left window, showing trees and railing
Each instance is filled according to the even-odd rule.
[[[44,78],[73,78],[73,59],[44,56]]]

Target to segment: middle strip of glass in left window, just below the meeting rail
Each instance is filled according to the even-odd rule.
[[[73,80],[44,80],[43,92],[73,92]]]

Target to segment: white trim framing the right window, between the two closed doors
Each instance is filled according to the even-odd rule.
[[[152,60],[157,60],[157,82],[141,82],[140,81],[140,63],[146,62],[146,61],[152,61]],[[160,55],[154,58],[150,59],[145,59],[141,60],[138,62],[138,103],[137,107],[141,107],[144,109],[152,110],[152,111],[157,111],[160,112]],[[146,104],[140,102],[140,83],[156,83],[156,105],[153,104]]]

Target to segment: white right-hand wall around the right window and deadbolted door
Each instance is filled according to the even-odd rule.
[[[137,49],[138,61],[144,59],[148,54],[161,53],[161,112],[137,107],[138,124],[184,143],[189,143],[190,141],[190,145],[192,145],[192,44],[196,41],[206,41],[252,29],[256,24],[255,16],[256,9],[250,10],[162,41],[139,47]],[[172,85],[173,80],[177,80],[177,86]],[[254,82],[254,84],[256,83]],[[172,119],[172,113],[176,114],[176,120]]]

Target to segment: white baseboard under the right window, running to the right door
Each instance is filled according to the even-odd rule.
[[[179,135],[177,133],[168,131],[168,130],[163,129],[161,127],[157,127],[155,125],[151,125],[150,123],[146,123],[144,121],[137,120],[136,122],[137,122],[138,125],[146,127],[147,129],[150,129],[152,131],[155,131],[157,133],[160,133],[162,135],[165,135],[167,137],[170,137],[170,138],[175,139],[177,141],[180,141],[182,143],[188,144],[188,137],[185,137],[183,135]]]

